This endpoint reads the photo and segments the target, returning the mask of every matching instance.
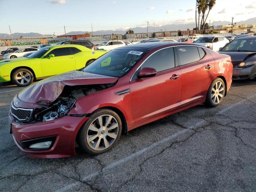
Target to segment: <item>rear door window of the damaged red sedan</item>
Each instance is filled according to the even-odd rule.
[[[179,55],[179,65],[186,65],[200,60],[200,55],[196,46],[177,47]]]

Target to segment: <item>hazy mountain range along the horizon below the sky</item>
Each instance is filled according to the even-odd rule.
[[[231,24],[230,21],[214,21],[214,26],[217,25],[224,25],[224,24]],[[248,20],[244,21],[239,21],[236,22],[236,24],[256,24],[256,17],[250,18]],[[212,23],[210,24],[212,26]],[[168,24],[168,25],[163,25],[160,27],[155,27],[155,31],[174,31],[174,30],[187,30],[190,29],[192,30],[195,27],[195,23],[186,23],[186,24]],[[146,33],[147,32],[147,27],[136,27],[136,28],[129,28],[134,31],[134,33]],[[127,30],[129,30],[127,29]],[[104,34],[125,34],[127,30],[99,30],[99,31],[94,31],[94,35],[104,35]],[[66,33],[66,35],[77,35],[77,34],[85,34],[88,31],[72,31]],[[154,32],[154,27],[149,26],[148,27],[148,32]],[[20,38],[20,36],[23,37],[43,37],[43,36],[52,36],[49,34],[43,35],[40,33],[14,33],[12,34],[13,38]],[[11,36],[10,34],[6,33],[0,33],[0,39],[10,39]]]

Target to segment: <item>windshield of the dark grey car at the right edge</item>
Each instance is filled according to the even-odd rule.
[[[250,51],[256,52],[256,39],[233,40],[230,44],[222,48],[221,51]]]

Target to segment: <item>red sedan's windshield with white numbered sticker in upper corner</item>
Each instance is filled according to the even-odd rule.
[[[128,73],[148,50],[114,49],[84,68],[84,72],[121,77]]]

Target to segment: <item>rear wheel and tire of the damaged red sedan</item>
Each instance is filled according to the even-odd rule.
[[[207,93],[207,98],[206,98],[206,104],[208,106],[218,106],[224,98],[225,95],[225,84],[221,78],[216,78]]]

